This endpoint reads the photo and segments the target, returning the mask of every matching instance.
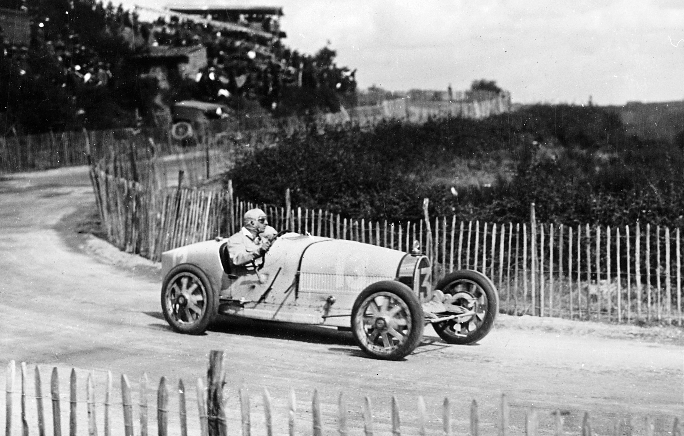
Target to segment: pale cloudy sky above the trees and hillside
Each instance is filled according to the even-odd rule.
[[[682,0],[121,2],[282,6],[285,44],[313,54],[330,42],[360,89],[466,90],[487,79],[514,103],[684,99]]]

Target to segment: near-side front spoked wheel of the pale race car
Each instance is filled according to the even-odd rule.
[[[418,297],[403,283],[371,284],[352,308],[352,334],[367,355],[398,360],[410,354],[423,338],[425,316]]]

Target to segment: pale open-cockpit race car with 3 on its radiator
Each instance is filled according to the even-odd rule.
[[[477,342],[499,307],[495,286],[477,271],[447,274],[433,288],[432,266],[417,247],[404,253],[288,232],[261,269],[238,276],[225,241],[162,254],[161,308],[175,331],[203,333],[218,314],[333,326],[351,329],[372,357],[401,359],[428,323],[450,344]]]

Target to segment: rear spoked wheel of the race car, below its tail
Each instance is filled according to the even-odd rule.
[[[161,311],[175,331],[199,335],[207,330],[218,313],[218,297],[201,269],[181,264],[164,278]]]

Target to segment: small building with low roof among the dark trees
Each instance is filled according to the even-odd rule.
[[[192,79],[207,66],[205,46],[173,47],[150,46],[143,53],[135,55],[142,77],[156,77],[159,87],[168,89],[174,81]]]

